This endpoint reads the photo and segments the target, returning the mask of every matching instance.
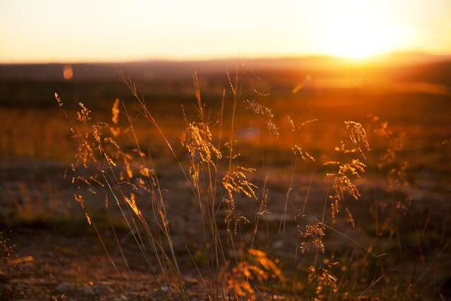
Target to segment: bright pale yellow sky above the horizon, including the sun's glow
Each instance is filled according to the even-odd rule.
[[[0,63],[451,54],[451,0],[0,0]]]

